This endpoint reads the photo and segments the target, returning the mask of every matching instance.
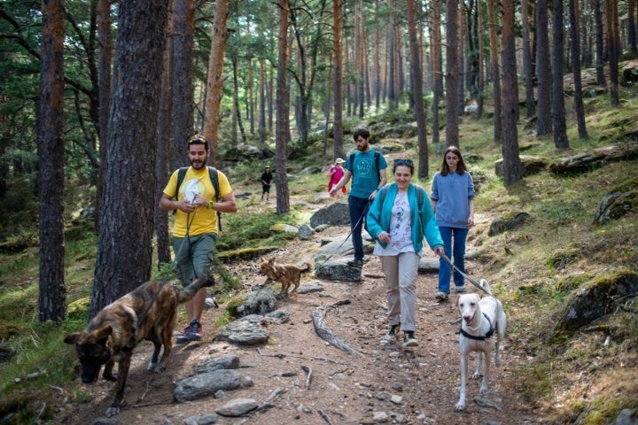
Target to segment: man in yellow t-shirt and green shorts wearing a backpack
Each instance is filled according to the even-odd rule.
[[[203,135],[193,135],[188,142],[188,156],[191,166],[184,175],[177,191],[175,170],[161,199],[159,208],[175,211],[173,228],[173,250],[177,263],[177,277],[186,286],[199,276],[206,276],[210,267],[215,244],[217,243],[217,212],[237,213],[235,196],[230,189],[228,178],[217,171],[219,199],[214,202],[215,191],[206,166],[208,141]],[[175,200],[176,199],[176,200]],[[201,315],[206,303],[206,289],[198,291],[194,298],[186,302],[186,312],[191,323],[177,337],[177,344],[199,341],[202,337]]]

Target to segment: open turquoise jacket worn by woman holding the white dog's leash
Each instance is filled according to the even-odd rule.
[[[437,225],[434,213],[432,212],[432,205],[428,200],[427,195],[424,193],[424,203],[421,207],[420,217],[418,210],[418,201],[416,197],[416,190],[424,190],[421,187],[417,187],[410,183],[408,187],[408,202],[410,205],[411,228],[412,228],[412,244],[416,253],[421,252],[423,249],[423,238],[430,245],[432,251],[437,246],[444,247],[443,239],[441,239],[439,226]],[[399,189],[396,183],[391,183],[381,189],[385,190],[385,198],[383,205],[381,205],[381,193],[377,193],[374,202],[370,205],[370,211],[366,217],[366,228],[370,236],[374,237],[381,246],[385,248],[386,243],[382,243],[378,240],[378,236],[381,232],[387,232],[390,229],[390,218],[392,217],[392,209],[394,205],[394,198],[397,196]],[[425,192],[425,190],[424,190]]]

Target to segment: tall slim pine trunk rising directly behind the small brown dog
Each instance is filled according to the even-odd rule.
[[[286,76],[288,67],[288,0],[278,0],[277,5],[279,9],[279,56],[276,83],[276,211],[277,214],[285,214],[290,213],[286,170],[286,143],[290,125],[290,92]]]

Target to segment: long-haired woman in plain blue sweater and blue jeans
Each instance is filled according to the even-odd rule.
[[[474,182],[461,151],[450,146],[443,155],[439,173],[432,180],[432,210],[436,214],[447,258],[453,258],[455,268],[465,273],[465,239],[474,226]],[[436,298],[445,301],[450,291],[452,267],[439,262],[439,292]],[[456,292],[463,292],[463,275],[454,273]]]

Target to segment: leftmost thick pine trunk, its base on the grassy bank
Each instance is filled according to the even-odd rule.
[[[40,164],[40,287],[38,320],[66,315],[64,267],[64,6],[42,2],[38,161]]]

